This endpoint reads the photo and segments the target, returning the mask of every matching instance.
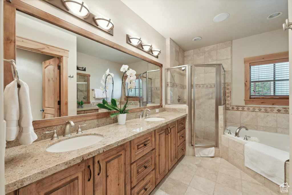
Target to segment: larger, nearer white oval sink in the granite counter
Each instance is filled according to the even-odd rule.
[[[100,135],[84,135],[74,137],[71,139],[63,140],[54,145],[51,145],[46,149],[48,152],[67,152],[71,150],[77,150],[95,144],[102,140]]]

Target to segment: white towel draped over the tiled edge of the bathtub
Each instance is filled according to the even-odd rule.
[[[285,182],[285,161],[289,153],[258,142],[244,144],[244,165],[281,185]]]

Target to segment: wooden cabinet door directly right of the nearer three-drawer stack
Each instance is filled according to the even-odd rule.
[[[168,125],[155,130],[155,184],[168,173]]]

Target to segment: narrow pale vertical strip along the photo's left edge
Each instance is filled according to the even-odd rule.
[[[0,43],[3,43],[3,1],[0,1]],[[3,59],[3,44],[0,44],[0,59]],[[3,61],[0,60],[0,70],[3,70]],[[3,71],[0,71],[0,83],[3,83]],[[3,85],[0,85],[0,107],[3,108]],[[0,110],[0,129],[4,132],[4,113]],[[4,177],[5,136],[0,139],[0,194],[5,194]]]

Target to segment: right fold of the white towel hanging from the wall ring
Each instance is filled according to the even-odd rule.
[[[19,101],[19,124],[21,130],[19,132],[19,143],[22,145],[32,144],[37,139],[32,127],[32,110],[29,102],[29,88],[28,85],[19,80],[20,89],[18,92]]]

